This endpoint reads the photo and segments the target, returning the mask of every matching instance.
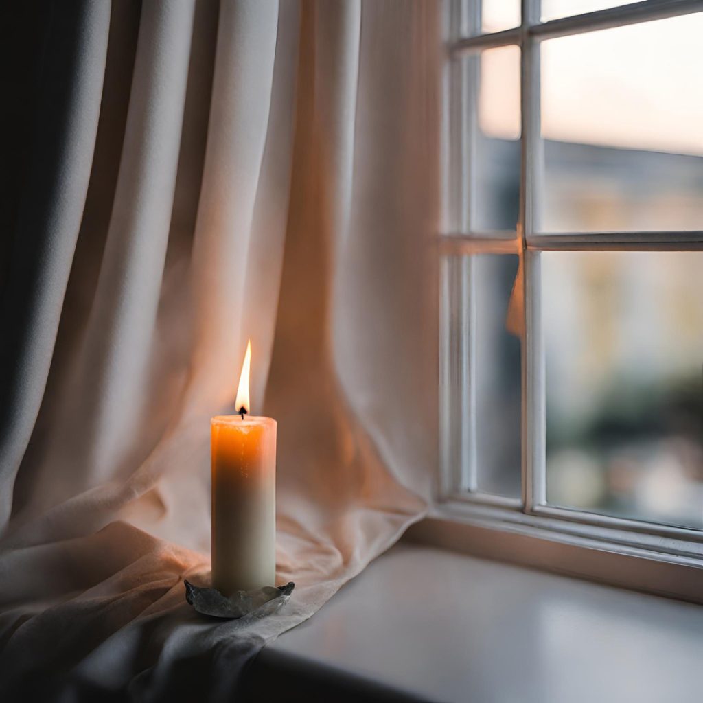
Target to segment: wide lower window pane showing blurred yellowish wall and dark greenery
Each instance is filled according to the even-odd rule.
[[[703,252],[544,252],[547,498],[703,528]]]

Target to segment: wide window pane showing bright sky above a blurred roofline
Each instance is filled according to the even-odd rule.
[[[543,231],[703,229],[703,13],[543,41]]]

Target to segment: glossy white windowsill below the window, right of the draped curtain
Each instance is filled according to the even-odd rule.
[[[700,699],[703,608],[401,543],[264,648],[258,699]],[[253,697],[253,696],[252,696]]]

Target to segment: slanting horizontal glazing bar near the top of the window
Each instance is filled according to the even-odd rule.
[[[608,30],[623,25],[634,25],[638,22],[663,20],[678,15],[688,15],[696,11],[703,11],[702,0],[644,0],[643,2],[619,7],[607,8],[581,15],[572,15],[558,20],[540,22],[527,27],[527,32],[535,39],[553,39],[565,37],[570,34]],[[483,49],[492,49],[496,46],[520,44],[522,30],[515,27],[503,32],[479,34],[476,37],[465,37],[449,44],[449,51],[456,53],[472,53]]]

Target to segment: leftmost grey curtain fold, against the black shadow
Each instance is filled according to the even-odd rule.
[[[47,4],[37,92],[7,278],[0,357],[0,529],[49,375],[95,146],[108,3]],[[18,16],[18,15],[15,15]],[[7,25],[6,25],[7,26]],[[15,27],[20,31],[20,27]],[[10,136],[12,138],[12,136]]]

